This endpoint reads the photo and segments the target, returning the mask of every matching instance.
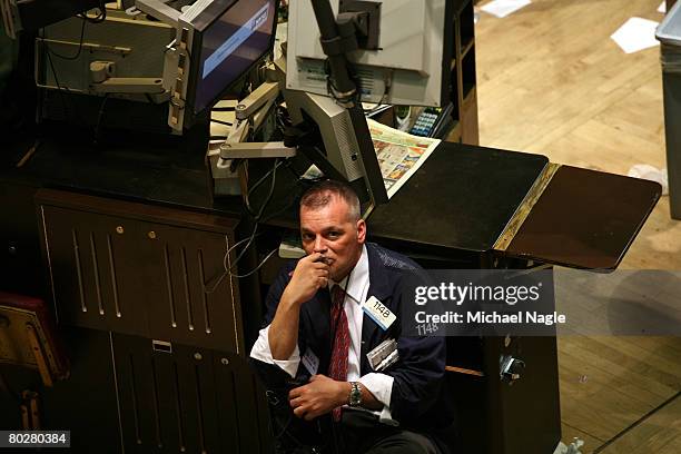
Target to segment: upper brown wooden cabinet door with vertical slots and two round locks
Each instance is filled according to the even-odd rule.
[[[236,219],[53,190],[37,201],[59,323],[244,353],[225,270]]]

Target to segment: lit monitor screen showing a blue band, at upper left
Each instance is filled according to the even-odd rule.
[[[219,100],[272,50],[276,0],[237,0],[201,32],[193,110],[197,115]],[[196,48],[195,48],[196,49]]]

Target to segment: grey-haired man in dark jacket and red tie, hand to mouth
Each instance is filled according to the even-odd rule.
[[[344,184],[307,190],[299,214],[307,256],[272,285],[250,352],[266,387],[295,378],[288,395],[279,395],[316,427],[330,416],[336,452],[446,452],[436,435],[452,422],[443,398],[445,339],[401,335],[401,279],[418,266],[365,243],[359,200]],[[375,299],[396,315],[385,329],[363,310]],[[369,364],[367,353],[386,339],[396,340],[396,362]]]

